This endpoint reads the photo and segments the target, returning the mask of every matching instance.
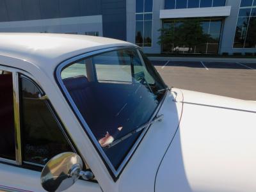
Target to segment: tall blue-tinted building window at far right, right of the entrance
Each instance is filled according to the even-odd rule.
[[[234,48],[256,48],[256,0],[242,0],[236,24]]]

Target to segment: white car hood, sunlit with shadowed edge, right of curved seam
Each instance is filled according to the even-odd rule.
[[[256,191],[256,104],[182,90],[179,131],[157,191]]]

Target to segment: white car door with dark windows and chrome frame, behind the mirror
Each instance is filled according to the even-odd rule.
[[[0,66],[0,190],[44,191],[44,164],[77,152],[74,146],[44,91],[19,70]],[[102,190],[96,179],[80,179],[67,191]]]

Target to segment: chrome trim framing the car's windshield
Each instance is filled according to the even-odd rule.
[[[113,166],[113,164],[111,163],[111,161],[108,159],[108,156],[106,156],[102,147],[100,147],[99,142],[97,141],[97,139],[93,135],[93,132],[91,131],[88,124],[84,120],[84,118],[81,115],[79,109],[77,108],[74,100],[72,99],[70,93],[68,92],[67,88],[65,87],[65,85],[64,85],[64,83],[61,79],[61,71],[63,70],[63,68],[67,67],[68,65],[71,65],[75,61],[83,60],[83,59],[86,59],[86,58],[89,58],[89,57],[92,57],[92,56],[95,56],[97,54],[101,54],[101,53],[104,53],[104,52],[116,51],[116,50],[120,50],[120,49],[137,49],[138,50],[138,49],[141,49],[141,48],[138,47],[138,46],[135,46],[135,45],[134,46],[131,45],[131,46],[111,47],[111,48],[106,48],[106,49],[100,49],[100,50],[97,50],[97,51],[86,52],[84,54],[81,54],[79,56],[74,56],[73,58],[70,58],[70,59],[65,60],[62,63],[60,63],[60,65],[58,65],[56,67],[56,74],[55,74],[57,83],[60,85],[60,88],[62,89],[61,91],[64,92],[64,95],[67,98],[67,102],[69,102],[69,104],[72,106],[72,109],[74,110],[74,112],[78,116],[79,121],[81,122],[83,128],[85,129],[86,133],[88,134],[88,137],[90,138],[90,140],[93,141],[93,145],[96,147],[97,151],[99,152],[99,155],[103,158],[102,160],[104,161],[104,163],[106,163],[108,165],[107,168],[109,168],[111,170],[111,172],[113,173],[113,175],[115,175],[115,177],[118,177],[118,175],[122,172],[125,165],[128,163],[129,159],[131,158],[132,154],[134,153],[134,151],[136,150],[136,148],[140,144],[140,141],[142,140],[143,136],[145,136],[145,133],[148,131],[148,128],[150,127],[150,125],[141,132],[140,136],[135,141],[132,148],[129,150],[129,153],[127,154],[127,156],[125,156],[124,160],[122,161],[122,163],[120,164],[120,166],[116,170],[115,167]],[[140,52],[138,52],[138,54],[139,54],[140,58],[142,58]],[[141,62],[143,62],[143,65],[145,65],[143,60],[141,60]],[[163,99],[161,100],[161,102],[159,102],[159,105],[157,106],[157,108],[154,111],[154,114],[152,115],[150,120],[152,120],[154,118],[154,116],[157,115],[157,113],[158,113],[159,109],[161,108],[161,106],[163,104],[163,101],[166,97],[166,93],[167,92],[164,93]]]

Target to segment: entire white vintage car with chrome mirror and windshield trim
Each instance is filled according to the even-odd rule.
[[[127,42],[2,33],[0,190],[256,191],[256,104],[168,88]]]

